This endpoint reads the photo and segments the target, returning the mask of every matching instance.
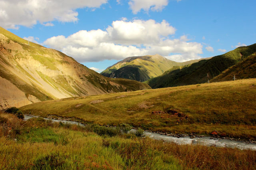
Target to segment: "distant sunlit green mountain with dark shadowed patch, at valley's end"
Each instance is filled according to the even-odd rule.
[[[183,66],[199,60],[191,60],[183,63],[171,61],[161,55],[146,55],[128,57],[102,71],[106,77],[125,78],[137,81],[146,81],[150,78],[162,75],[164,71],[174,67]]]

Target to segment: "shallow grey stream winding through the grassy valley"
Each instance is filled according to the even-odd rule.
[[[37,117],[37,116],[25,115],[24,120],[26,121],[33,117]],[[53,122],[62,122],[62,123],[84,126],[83,124],[74,122],[74,121],[62,121],[62,120],[48,119],[48,118],[44,118],[44,119],[51,120]],[[136,132],[136,130],[132,129],[131,132]],[[210,136],[204,136],[201,138],[198,138],[198,137],[190,138],[189,136],[185,136],[185,137],[177,138],[174,136],[167,136],[164,134],[158,134],[158,133],[148,132],[148,131],[144,131],[144,136],[148,136],[148,137],[154,138],[156,140],[164,140],[166,142],[174,142],[176,144],[200,144],[200,145],[204,145],[204,146],[216,146],[216,147],[256,150],[255,143],[246,143],[246,142],[242,142],[239,140],[230,140],[230,139],[222,139],[222,138],[213,138],[212,139]]]

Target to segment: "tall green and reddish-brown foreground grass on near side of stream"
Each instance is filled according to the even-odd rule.
[[[40,118],[24,122],[6,113],[0,113],[0,120],[5,122],[0,123],[0,169],[256,168],[252,150],[178,145],[126,134],[98,136],[90,128]]]

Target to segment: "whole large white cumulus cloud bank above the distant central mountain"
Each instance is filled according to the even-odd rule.
[[[163,20],[126,19],[112,22],[103,30],[81,30],[68,37],[55,36],[44,44],[74,57],[79,62],[124,59],[130,56],[160,54],[175,61],[200,58],[202,45],[188,42],[187,36],[170,39],[176,29]],[[176,57],[172,53],[179,54]]]

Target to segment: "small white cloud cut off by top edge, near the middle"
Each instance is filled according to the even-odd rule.
[[[165,6],[168,5],[168,0],[130,0],[128,2],[130,8],[134,14],[144,10],[148,12],[152,11],[161,11]]]

